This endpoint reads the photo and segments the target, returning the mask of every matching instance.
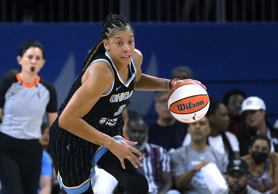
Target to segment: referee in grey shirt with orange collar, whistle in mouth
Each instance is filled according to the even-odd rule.
[[[38,76],[45,64],[38,41],[25,41],[17,62],[21,72],[0,83],[0,179],[2,193],[36,194],[41,173],[41,123],[57,117],[54,86]]]

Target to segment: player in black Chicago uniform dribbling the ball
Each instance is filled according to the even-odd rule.
[[[69,194],[93,193],[89,182],[95,165],[113,175],[126,193],[148,193],[147,179],[136,164],[142,163],[133,153],[144,156],[129,146],[137,142],[124,140],[121,113],[133,89],[170,90],[181,80],[142,74],[143,57],[124,17],[109,14],[101,33],[50,129],[54,168]]]

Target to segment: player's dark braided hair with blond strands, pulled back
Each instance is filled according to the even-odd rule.
[[[102,37],[90,51],[82,65],[81,70],[84,70],[84,68],[89,65],[98,54],[105,53],[103,39],[107,40],[108,38],[115,36],[118,31],[127,29],[129,29],[134,34],[131,24],[125,19],[125,17],[114,13],[109,14],[102,23]]]

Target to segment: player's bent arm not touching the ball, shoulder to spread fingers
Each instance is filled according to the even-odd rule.
[[[105,79],[103,79],[105,77]],[[103,93],[107,93],[114,80],[114,74],[105,62],[96,62],[89,66],[81,81],[82,85],[72,98],[59,117],[59,126],[89,142],[107,147],[116,155],[121,163],[127,158],[136,167],[141,162],[133,157],[132,152],[143,156],[142,153],[128,144],[136,144],[126,140],[117,141],[112,137],[96,130],[85,122],[82,117],[94,106]],[[123,168],[125,167],[122,163]]]

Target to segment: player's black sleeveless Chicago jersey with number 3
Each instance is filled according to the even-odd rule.
[[[114,73],[114,81],[111,84],[110,90],[100,97],[92,109],[82,119],[84,119],[89,125],[106,134],[109,134],[113,129],[117,128],[118,132],[112,132],[112,134],[118,135],[122,133],[120,130],[122,130],[123,127],[121,116],[122,110],[125,108],[128,99],[131,97],[135,86],[136,64],[132,57],[131,62],[129,63],[129,79],[124,83],[108,52],[98,55],[90,65],[98,61],[106,62],[110,66]],[[72,84],[65,102],[58,110],[58,115],[61,115],[73,94],[82,85],[81,78],[87,68],[88,66],[80,72]],[[105,79],[105,77],[103,77],[103,79]]]

